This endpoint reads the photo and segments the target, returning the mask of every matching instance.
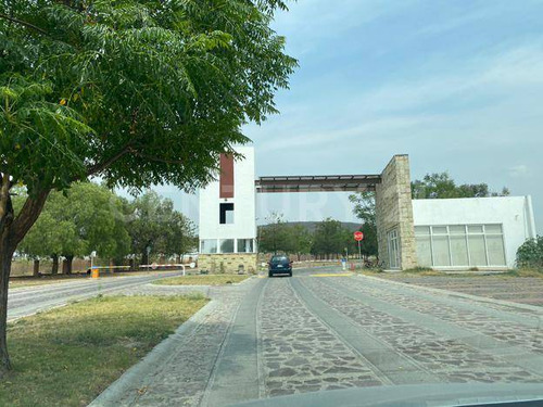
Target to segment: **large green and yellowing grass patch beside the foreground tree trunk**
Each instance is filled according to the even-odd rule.
[[[106,296],[10,323],[0,406],[86,406],[206,302]]]

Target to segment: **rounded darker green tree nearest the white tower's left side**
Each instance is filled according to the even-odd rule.
[[[141,255],[149,264],[150,255],[182,255],[195,249],[195,227],[174,209],[172,200],[149,191],[130,204],[131,215],[126,224],[131,238],[131,253]]]

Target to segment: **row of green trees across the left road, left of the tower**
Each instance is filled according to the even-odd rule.
[[[26,199],[14,196],[15,211]],[[103,186],[78,182],[65,193],[52,192],[41,216],[18,246],[18,254],[52,260],[52,274],[72,274],[73,259],[96,251],[116,265],[149,264],[150,256],[180,256],[197,247],[195,227],[173,202],[149,191],[128,201]],[[59,269],[60,258],[62,269]]]

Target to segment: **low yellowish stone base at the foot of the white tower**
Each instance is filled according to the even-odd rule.
[[[198,256],[198,268],[210,274],[238,274],[240,266],[243,266],[245,272],[254,274],[257,271],[256,253],[220,253],[220,254],[200,254]]]

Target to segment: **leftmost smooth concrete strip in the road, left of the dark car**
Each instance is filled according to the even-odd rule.
[[[262,378],[258,371],[256,311],[266,282],[258,280],[242,300],[201,406],[223,406],[260,398]]]

